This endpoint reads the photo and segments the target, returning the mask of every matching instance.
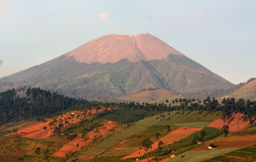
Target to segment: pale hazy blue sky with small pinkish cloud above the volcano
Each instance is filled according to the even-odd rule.
[[[146,32],[232,83],[256,77],[255,0],[0,0],[0,77]]]

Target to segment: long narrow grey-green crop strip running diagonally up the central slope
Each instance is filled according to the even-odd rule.
[[[167,113],[163,113],[163,114],[167,115]],[[145,128],[147,128],[153,124],[156,124],[157,122],[159,122],[162,119],[163,118],[159,117],[159,115],[154,115],[152,117],[148,117],[146,119],[139,120],[135,124],[131,125],[129,128],[126,128],[123,132],[118,133],[113,136],[110,136],[109,138],[98,143],[96,146],[83,152],[82,155],[89,155],[89,156],[100,155],[103,152],[110,149],[115,144],[120,143],[121,141],[125,140],[126,138],[128,138],[132,135],[135,135],[136,133],[140,132],[141,130],[144,130]]]

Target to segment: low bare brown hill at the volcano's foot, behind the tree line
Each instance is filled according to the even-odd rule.
[[[134,101],[135,103],[162,103],[168,99],[169,101],[174,100],[175,98],[184,98],[184,96],[177,95],[172,91],[165,90],[165,89],[157,89],[157,90],[147,90],[147,91],[142,91],[139,93],[134,93],[132,95],[126,95],[126,96],[121,96],[118,97],[118,99],[123,100],[123,101]]]

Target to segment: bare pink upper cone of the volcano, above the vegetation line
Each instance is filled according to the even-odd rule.
[[[182,55],[153,35],[103,35],[67,53],[80,63],[115,63],[127,58],[131,62],[139,60],[164,59],[168,55]]]

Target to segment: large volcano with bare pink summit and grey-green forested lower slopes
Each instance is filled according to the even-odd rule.
[[[150,34],[104,35],[38,66],[0,79],[88,100],[163,88],[189,97],[226,95],[233,84]],[[204,96],[205,97],[205,96]]]

